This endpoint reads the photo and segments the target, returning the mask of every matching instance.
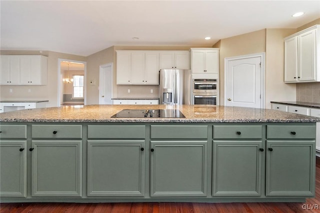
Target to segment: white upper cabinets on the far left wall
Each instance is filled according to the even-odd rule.
[[[1,55],[1,84],[45,85],[47,57],[42,55]]]

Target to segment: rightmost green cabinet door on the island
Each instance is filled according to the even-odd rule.
[[[315,141],[266,143],[266,195],[314,196]]]

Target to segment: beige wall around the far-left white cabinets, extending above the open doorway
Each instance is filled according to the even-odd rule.
[[[48,107],[57,106],[58,97],[58,58],[85,61],[84,56],[52,51],[1,50],[1,55],[44,55],[47,56],[47,84],[41,86],[0,86],[0,100],[48,100]],[[12,89],[12,92],[9,90]],[[30,90],[30,92],[28,92]]]

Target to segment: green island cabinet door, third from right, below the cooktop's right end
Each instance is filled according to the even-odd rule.
[[[207,196],[206,141],[151,141],[150,196]]]

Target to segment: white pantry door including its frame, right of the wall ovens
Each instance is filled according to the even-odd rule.
[[[264,108],[264,53],[224,60],[224,105]]]

